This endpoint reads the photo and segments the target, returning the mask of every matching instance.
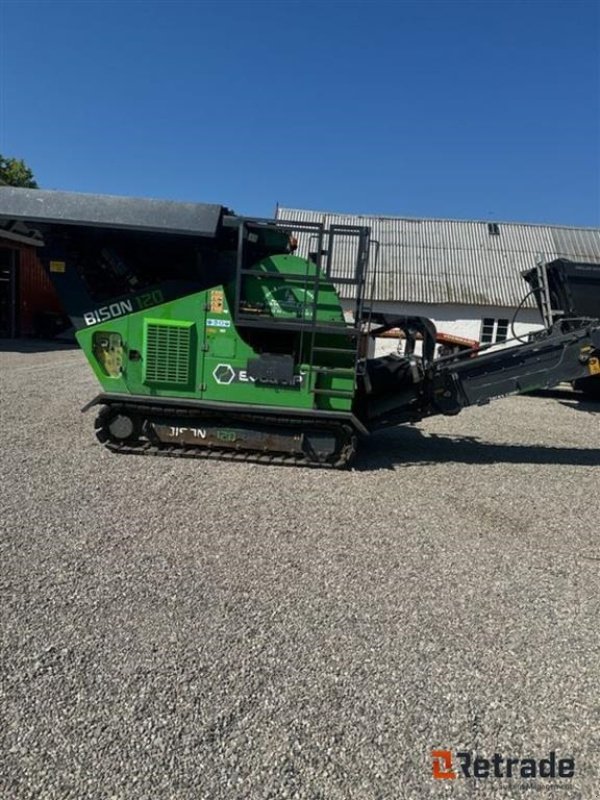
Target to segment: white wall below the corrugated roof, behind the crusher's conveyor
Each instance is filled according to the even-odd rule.
[[[344,310],[352,313],[352,301],[343,301]],[[432,320],[438,331],[463,336],[466,339],[479,341],[481,338],[481,325],[484,317],[492,319],[508,319],[509,323],[516,311],[515,308],[506,306],[473,306],[463,304],[426,304],[426,303],[373,303],[374,311],[386,314],[427,317]],[[524,336],[531,331],[543,327],[537,309],[524,308],[517,314],[515,333]],[[509,328],[509,338],[512,333]],[[375,355],[385,355],[396,352],[398,339],[377,339]]]

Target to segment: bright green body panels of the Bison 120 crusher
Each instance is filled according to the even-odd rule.
[[[343,323],[334,287],[322,280],[315,297],[312,262],[296,256],[274,256],[257,265],[267,277],[246,278],[245,297],[271,319],[317,319]],[[286,274],[308,274],[308,279]],[[311,284],[312,279],[312,284]],[[102,389],[111,393],[205,399],[273,408],[350,411],[355,389],[354,357],[350,353],[314,354],[312,345],[348,349],[343,333],[285,334],[290,350],[299,355],[293,386],[260,385],[248,377],[248,362],[277,350],[282,332],[238,330],[233,321],[232,286],[216,286],[150,309],[123,315],[77,333]],[[309,315],[310,316],[307,316]],[[258,334],[258,339],[257,339]],[[252,344],[250,344],[252,343]],[[286,345],[287,346],[287,345]],[[255,349],[256,347],[256,349]],[[336,370],[337,374],[315,370]],[[341,374],[340,374],[341,372]],[[333,395],[314,393],[314,389]],[[337,394],[339,393],[339,394]]]

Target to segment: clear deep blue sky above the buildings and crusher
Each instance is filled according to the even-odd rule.
[[[590,0],[0,0],[0,152],[44,188],[600,224]]]

